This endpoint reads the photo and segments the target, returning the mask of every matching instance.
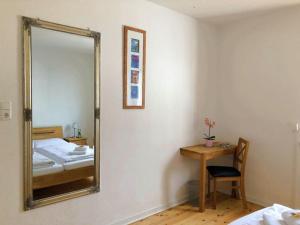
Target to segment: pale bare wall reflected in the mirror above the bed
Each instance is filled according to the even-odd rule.
[[[80,48],[32,42],[33,127],[63,126],[73,136],[77,122],[82,136],[93,142],[94,55]],[[77,37],[76,37],[77,38]],[[36,43],[35,43],[36,40]],[[60,40],[62,41],[62,40]],[[91,42],[93,46],[93,42]]]

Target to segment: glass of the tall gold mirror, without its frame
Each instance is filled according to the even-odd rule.
[[[95,185],[94,38],[31,27],[32,199]]]

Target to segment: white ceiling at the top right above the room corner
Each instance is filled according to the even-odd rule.
[[[149,0],[186,15],[223,23],[249,14],[300,4],[300,0]]]

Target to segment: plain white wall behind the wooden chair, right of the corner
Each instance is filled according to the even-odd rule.
[[[217,135],[250,140],[247,195],[263,204],[293,204],[299,20],[295,7],[227,24],[218,33]]]

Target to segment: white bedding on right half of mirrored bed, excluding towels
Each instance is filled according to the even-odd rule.
[[[78,145],[65,142],[60,143],[59,145],[49,145],[35,148],[35,151],[49,157],[59,164],[66,164],[79,160],[94,158],[94,150],[91,148],[89,148],[83,155],[70,155],[69,153],[73,152],[76,147],[78,147]]]

